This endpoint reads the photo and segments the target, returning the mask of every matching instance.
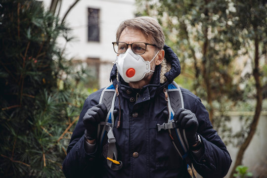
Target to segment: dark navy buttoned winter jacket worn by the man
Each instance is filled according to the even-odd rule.
[[[85,150],[85,127],[83,117],[87,110],[98,104],[100,89],[86,99],[80,119],[72,134],[63,163],[63,172],[67,178],[188,178],[186,165],[179,157],[171,142],[168,131],[157,132],[156,125],[167,121],[163,111],[167,111],[164,87],[173,82],[180,74],[178,57],[166,46],[165,58],[171,69],[164,74],[165,82],[161,83],[162,65],[156,66],[151,84],[142,89],[133,89],[119,76],[117,80],[116,65],[113,66],[110,79],[113,85],[119,86],[121,105],[121,127],[116,128],[118,116],[115,117],[114,135],[118,149],[118,160],[123,168],[112,171],[106,159],[96,146],[93,153]],[[231,158],[226,147],[209,120],[209,114],[201,100],[187,89],[181,89],[184,108],[195,113],[199,128],[197,133],[202,140],[202,154],[190,158],[196,171],[203,178],[223,178],[230,167]],[[115,109],[119,110],[119,99],[116,98]],[[134,158],[133,153],[138,157]]]

